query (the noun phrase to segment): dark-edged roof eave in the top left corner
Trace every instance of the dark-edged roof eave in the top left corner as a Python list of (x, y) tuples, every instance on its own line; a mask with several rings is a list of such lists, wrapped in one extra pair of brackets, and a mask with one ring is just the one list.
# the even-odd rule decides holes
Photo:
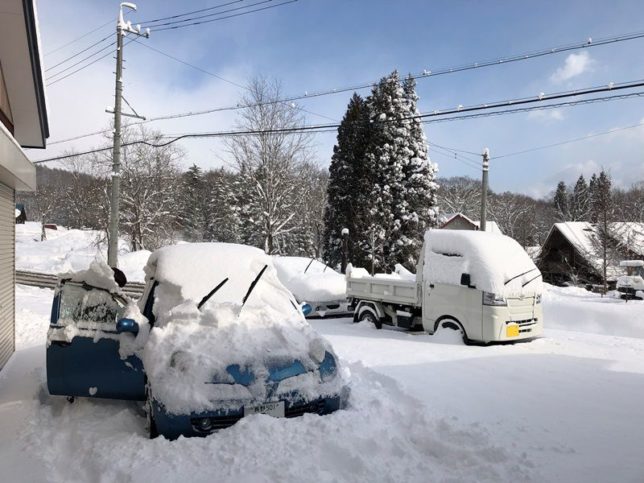
[(0, 66), (11, 105), (13, 137), (25, 148), (44, 148), (49, 137), (34, 0), (3, 0)]

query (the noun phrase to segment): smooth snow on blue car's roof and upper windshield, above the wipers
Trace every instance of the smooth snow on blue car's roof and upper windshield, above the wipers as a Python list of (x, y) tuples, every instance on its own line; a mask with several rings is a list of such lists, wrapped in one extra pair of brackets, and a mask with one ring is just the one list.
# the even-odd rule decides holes
[(279, 283), (271, 257), (259, 248), (232, 243), (185, 243), (161, 248), (148, 259), (146, 279), (180, 289), (182, 300), (200, 301), (228, 278), (213, 296), (213, 301), (241, 304), (250, 284), (264, 266), (262, 281), (278, 292), (288, 291)]

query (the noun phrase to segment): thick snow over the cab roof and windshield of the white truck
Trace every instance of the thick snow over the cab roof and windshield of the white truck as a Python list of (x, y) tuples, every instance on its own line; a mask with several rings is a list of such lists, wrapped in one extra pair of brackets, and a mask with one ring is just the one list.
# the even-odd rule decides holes
[(423, 276), (432, 283), (470, 285), (506, 297), (540, 293), (539, 269), (521, 245), (505, 235), (469, 230), (429, 230), (425, 234)]

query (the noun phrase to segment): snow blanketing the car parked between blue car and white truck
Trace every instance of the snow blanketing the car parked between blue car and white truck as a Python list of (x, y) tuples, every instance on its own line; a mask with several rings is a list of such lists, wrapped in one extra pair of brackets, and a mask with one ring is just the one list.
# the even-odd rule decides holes
[(277, 276), (302, 302), (344, 300), (347, 283), (343, 275), (318, 260), (305, 257), (273, 257)]

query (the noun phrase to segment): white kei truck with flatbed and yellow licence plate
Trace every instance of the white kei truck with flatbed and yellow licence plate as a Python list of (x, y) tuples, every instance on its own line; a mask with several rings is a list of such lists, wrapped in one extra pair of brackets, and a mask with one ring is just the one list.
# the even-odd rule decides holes
[[(434, 334), (466, 343), (532, 339), (543, 333), (541, 272), (512, 238), (482, 231), (428, 230), (416, 275), (347, 271), (354, 322)], [(402, 274), (400, 273), (402, 272)]]

